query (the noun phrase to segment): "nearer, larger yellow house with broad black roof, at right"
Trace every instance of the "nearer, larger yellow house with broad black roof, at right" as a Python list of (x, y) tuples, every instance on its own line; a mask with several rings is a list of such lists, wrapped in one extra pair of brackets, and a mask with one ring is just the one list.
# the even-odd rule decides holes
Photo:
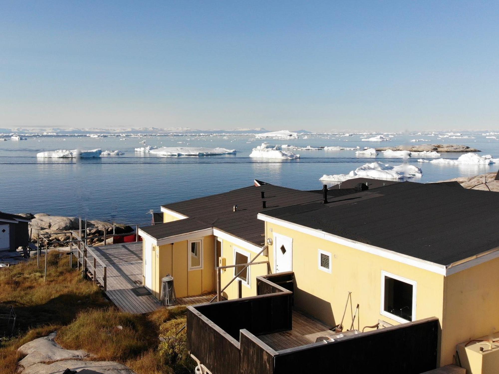
[(458, 344), (499, 331), (497, 208), (494, 192), (405, 182), (258, 218), (272, 272), (294, 273), (295, 308), (335, 326), (350, 295), (346, 325), (358, 304), (360, 330), (437, 317), (444, 366), (459, 364)]

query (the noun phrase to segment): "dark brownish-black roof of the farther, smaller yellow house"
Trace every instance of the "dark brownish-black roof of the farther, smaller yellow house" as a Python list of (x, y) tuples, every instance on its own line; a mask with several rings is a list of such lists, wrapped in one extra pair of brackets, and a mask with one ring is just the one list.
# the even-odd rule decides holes
[[(261, 197), (261, 192), (264, 197)], [(257, 213), (272, 208), (320, 201), (322, 196), (309, 191), (263, 184), (234, 189), (215, 195), (162, 205), (189, 218), (179, 221), (142, 227), (141, 230), (155, 239), (215, 227), (258, 246), (264, 245), (265, 223)], [(263, 208), (262, 201), (266, 202)], [(234, 211), (234, 205), (237, 210)]]

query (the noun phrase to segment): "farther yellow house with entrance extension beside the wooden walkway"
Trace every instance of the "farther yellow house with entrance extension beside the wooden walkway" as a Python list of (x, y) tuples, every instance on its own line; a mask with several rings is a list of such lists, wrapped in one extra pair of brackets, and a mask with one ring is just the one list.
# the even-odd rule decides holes
[[(250, 187), (162, 205), (163, 223), (139, 229), (143, 284), (160, 298), (161, 279), (170, 274), (177, 298), (213, 294), (217, 266), (268, 261), (265, 224), (257, 219), (259, 211), (320, 198), (315, 192), (255, 181)], [(255, 277), (267, 274), (267, 269), (268, 264), (260, 263), (221, 270), (221, 288), (229, 284), (221, 296), (255, 295)], [(230, 283), (238, 274), (237, 281)]]

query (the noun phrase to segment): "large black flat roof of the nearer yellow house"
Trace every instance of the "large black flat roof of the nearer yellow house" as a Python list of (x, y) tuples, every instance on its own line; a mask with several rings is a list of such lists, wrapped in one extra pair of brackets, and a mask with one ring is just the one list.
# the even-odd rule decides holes
[(498, 210), (498, 193), (403, 182), (262, 214), (447, 266), (499, 246)]

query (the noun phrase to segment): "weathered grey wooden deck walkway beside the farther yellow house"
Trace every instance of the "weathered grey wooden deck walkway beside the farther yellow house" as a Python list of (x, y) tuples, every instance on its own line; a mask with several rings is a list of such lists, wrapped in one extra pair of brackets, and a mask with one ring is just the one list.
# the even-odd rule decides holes
[[(152, 295), (137, 296), (132, 292), (132, 289), (142, 287), (141, 242), (92, 247), (92, 250), (107, 266), (106, 295), (121, 311), (142, 314), (164, 307)], [(102, 266), (97, 266), (96, 275), (101, 282)], [(214, 296), (213, 293), (177, 298), (175, 305), (207, 303)]]

